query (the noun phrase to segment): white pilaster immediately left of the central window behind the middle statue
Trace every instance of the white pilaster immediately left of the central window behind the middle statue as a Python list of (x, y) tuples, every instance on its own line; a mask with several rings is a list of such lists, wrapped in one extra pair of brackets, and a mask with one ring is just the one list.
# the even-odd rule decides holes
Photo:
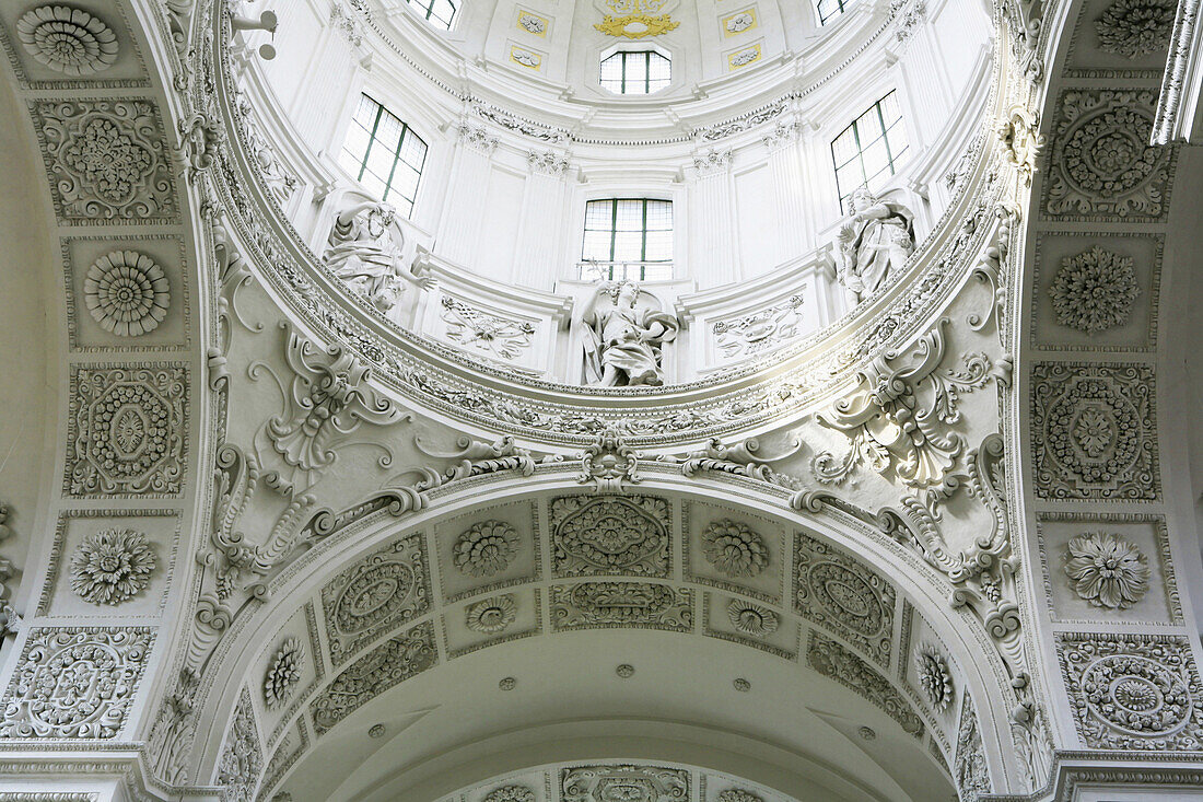
[(522, 196), (522, 229), (518, 231), (514, 278), (522, 287), (552, 291), (556, 279), (568, 275), (559, 264), (568, 194), (568, 157), (553, 151), (527, 154), (531, 175)]

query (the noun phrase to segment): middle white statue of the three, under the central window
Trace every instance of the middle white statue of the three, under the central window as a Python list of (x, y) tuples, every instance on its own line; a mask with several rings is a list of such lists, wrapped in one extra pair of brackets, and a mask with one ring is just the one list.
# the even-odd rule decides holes
[(602, 282), (574, 316), (586, 384), (664, 383), (660, 346), (676, 337), (680, 323), (671, 314), (638, 306), (639, 293), (639, 284), (632, 282)]

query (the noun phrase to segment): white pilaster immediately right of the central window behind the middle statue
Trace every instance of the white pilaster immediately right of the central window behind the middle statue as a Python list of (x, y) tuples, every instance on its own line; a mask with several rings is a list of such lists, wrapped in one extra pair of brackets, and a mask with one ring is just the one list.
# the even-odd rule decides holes
[(688, 275), (698, 289), (718, 287), (742, 277), (735, 236), (735, 179), (731, 152), (709, 151), (693, 158), (695, 181), (689, 204)]

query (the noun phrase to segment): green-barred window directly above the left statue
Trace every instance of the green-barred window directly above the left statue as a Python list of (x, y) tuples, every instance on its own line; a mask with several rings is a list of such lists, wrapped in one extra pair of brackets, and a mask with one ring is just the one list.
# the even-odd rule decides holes
[(367, 95), (360, 96), (338, 160), (368, 193), (392, 204), (398, 214), (409, 217), (414, 211), (426, 142)]

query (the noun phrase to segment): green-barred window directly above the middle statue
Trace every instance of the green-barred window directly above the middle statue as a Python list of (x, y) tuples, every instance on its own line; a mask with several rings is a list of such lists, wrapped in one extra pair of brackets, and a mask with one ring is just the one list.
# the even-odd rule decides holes
[(672, 278), (672, 201), (646, 197), (588, 201), (581, 278)]

